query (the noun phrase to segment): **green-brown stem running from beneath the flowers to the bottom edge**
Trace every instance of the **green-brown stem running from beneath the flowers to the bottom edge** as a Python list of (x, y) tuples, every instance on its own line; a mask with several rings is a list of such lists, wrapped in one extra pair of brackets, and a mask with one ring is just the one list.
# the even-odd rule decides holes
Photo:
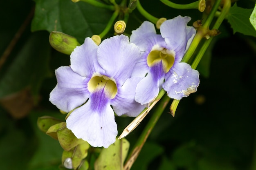
[[(161, 94), (165, 94), (165, 93), (161, 93)], [(162, 97), (162, 96), (158, 95), (158, 97)], [(167, 95), (164, 95), (164, 97), (159, 102), (159, 105), (154, 110), (153, 115), (150, 117), (150, 120), (148, 121), (146, 127), (144, 128), (143, 132), (141, 133), (139, 139), (137, 140), (137, 143), (133, 147), (132, 152), (129, 153), (128, 159), (124, 166), (124, 170), (130, 170), (130, 168), (132, 167), (132, 164), (137, 159), (137, 157), (141, 151), (141, 148), (144, 146), (144, 143), (146, 142), (148, 136), (150, 135), (150, 132), (153, 130), (155, 124), (157, 123), (159, 117), (164, 112), (164, 109), (166, 108), (169, 101), (170, 101), (170, 97), (168, 97)]]

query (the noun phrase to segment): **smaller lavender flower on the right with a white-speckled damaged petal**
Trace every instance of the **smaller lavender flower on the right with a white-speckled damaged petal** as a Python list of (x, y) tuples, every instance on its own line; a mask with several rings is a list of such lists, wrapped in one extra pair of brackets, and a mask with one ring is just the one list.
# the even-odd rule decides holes
[(177, 16), (160, 26), (161, 35), (155, 26), (145, 21), (132, 31), (130, 42), (140, 47), (141, 58), (132, 75), (145, 76), (138, 83), (135, 100), (150, 104), (164, 88), (167, 95), (180, 100), (197, 90), (199, 73), (187, 63), (180, 62), (196, 33), (187, 26), (190, 17)]

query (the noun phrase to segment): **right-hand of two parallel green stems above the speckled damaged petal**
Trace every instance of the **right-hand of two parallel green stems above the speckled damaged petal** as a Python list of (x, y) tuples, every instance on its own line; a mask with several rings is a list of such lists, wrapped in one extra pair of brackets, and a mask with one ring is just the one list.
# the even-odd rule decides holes
[[(220, 27), (220, 24), (225, 19), (227, 13), (229, 12), (230, 7), (231, 7), (231, 1), (230, 0), (225, 0), (222, 11), (220, 13), (220, 16), (217, 19), (217, 21), (215, 22), (215, 24), (213, 25), (213, 29), (218, 29)], [(210, 38), (209, 40), (205, 41), (204, 44), (202, 45), (202, 48), (198, 52), (198, 55), (195, 57), (195, 60), (191, 64), (191, 67), (193, 69), (195, 69), (198, 66), (200, 60), (202, 59), (202, 56), (204, 55), (205, 51), (207, 50), (208, 46), (210, 45), (212, 39), (213, 38)]]

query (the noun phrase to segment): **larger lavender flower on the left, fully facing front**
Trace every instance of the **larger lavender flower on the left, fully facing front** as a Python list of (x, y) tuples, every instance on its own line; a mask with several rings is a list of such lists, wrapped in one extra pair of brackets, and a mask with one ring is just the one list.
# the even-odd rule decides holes
[(125, 35), (99, 46), (86, 38), (72, 52), (71, 65), (55, 71), (57, 85), (49, 100), (65, 112), (74, 109), (66, 123), (77, 138), (108, 148), (117, 136), (114, 111), (136, 117), (144, 109), (134, 100), (141, 77), (131, 76), (139, 55), (139, 47)]

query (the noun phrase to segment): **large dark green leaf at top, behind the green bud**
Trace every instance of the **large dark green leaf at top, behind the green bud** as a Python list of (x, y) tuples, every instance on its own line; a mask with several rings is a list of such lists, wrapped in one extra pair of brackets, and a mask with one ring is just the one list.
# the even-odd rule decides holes
[(74, 36), (80, 43), (85, 37), (100, 34), (112, 11), (71, 0), (35, 0), (31, 31), (60, 31)]

